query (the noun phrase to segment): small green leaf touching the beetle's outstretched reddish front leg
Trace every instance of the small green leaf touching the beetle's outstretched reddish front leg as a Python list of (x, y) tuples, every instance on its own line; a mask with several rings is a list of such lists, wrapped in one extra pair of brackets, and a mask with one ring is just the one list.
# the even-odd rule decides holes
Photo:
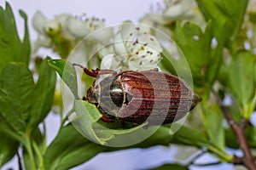
[(67, 87), (73, 93), (74, 97), (79, 99), (77, 74), (73, 64), (64, 59), (49, 59), (48, 64), (58, 72), (63, 82), (67, 84)]

